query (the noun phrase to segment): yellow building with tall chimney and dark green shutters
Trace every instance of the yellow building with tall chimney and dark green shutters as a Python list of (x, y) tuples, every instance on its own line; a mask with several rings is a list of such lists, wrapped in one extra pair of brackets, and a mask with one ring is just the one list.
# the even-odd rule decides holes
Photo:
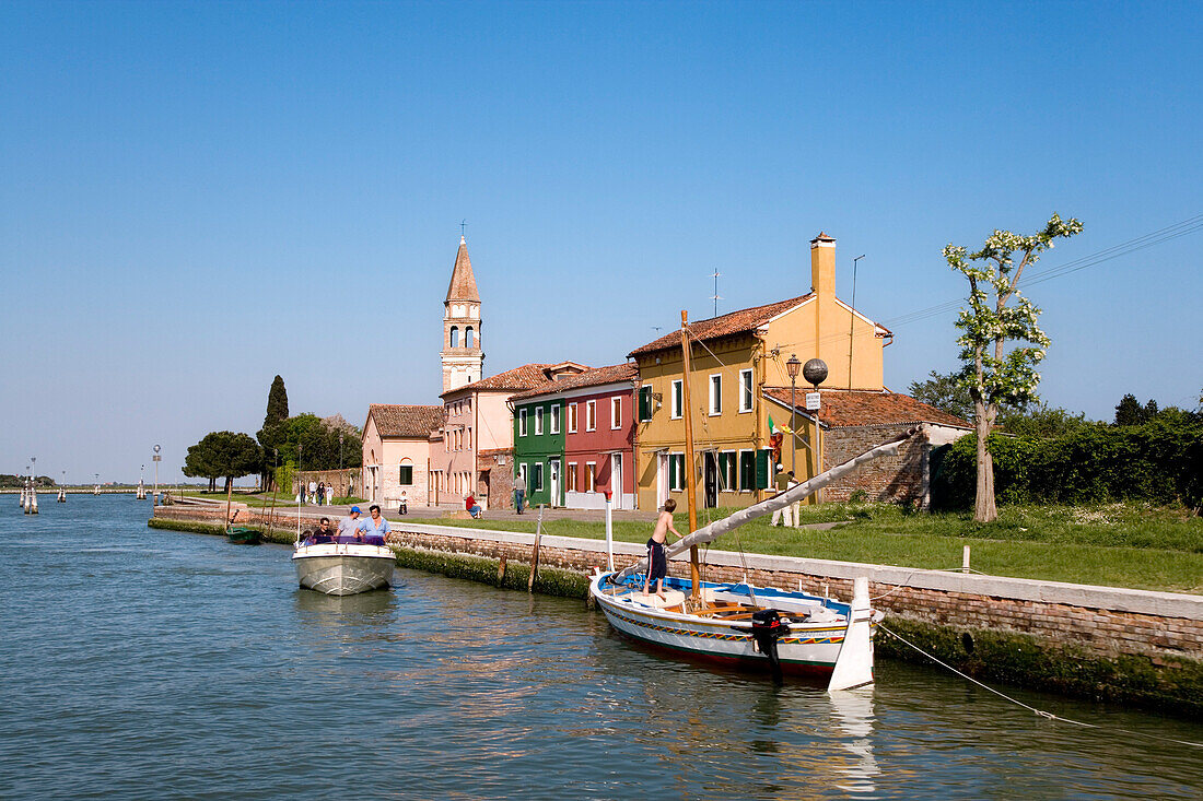
[[(775, 473), (769, 419), (790, 427), (790, 411), (766, 399), (768, 388), (789, 387), (792, 356), (828, 364), (824, 388), (877, 390), (882, 350), (893, 334), (835, 296), (835, 239), (811, 241), (811, 291), (766, 305), (689, 325), (691, 408), (700, 506), (747, 506), (761, 500)], [(674, 331), (629, 354), (639, 366), (639, 426), (635, 464), (639, 508), (668, 498), (685, 502), (685, 425), (681, 332)], [(811, 387), (798, 376), (798, 405)], [(787, 434), (780, 445), (786, 470), (813, 475), (813, 419), (796, 422), (796, 465)]]

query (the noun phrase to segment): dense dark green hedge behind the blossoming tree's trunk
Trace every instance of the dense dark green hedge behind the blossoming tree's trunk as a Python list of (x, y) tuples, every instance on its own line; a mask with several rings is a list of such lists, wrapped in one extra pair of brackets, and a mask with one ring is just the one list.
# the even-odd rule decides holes
[[(977, 437), (932, 461), (935, 509), (966, 509), (977, 488)], [(1055, 439), (990, 435), (998, 503), (1203, 503), (1203, 423), (1154, 420), (1098, 426)]]

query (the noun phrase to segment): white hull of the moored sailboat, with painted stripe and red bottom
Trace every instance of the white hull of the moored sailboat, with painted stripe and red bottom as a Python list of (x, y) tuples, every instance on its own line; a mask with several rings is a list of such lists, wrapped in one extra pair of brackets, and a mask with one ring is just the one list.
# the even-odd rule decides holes
[[(659, 648), (709, 661), (769, 669), (769, 658), (757, 648), (752, 627), (747, 621), (734, 623), (733, 621), (656, 609), (654, 595), (642, 595), (638, 589), (629, 588), (618, 593), (614, 593), (612, 588), (610, 588), (611, 592), (606, 592), (602, 588), (604, 580), (604, 575), (594, 576), (589, 592), (598, 606), (602, 607), (610, 625), (622, 634)], [(716, 588), (721, 589), (722, 587), (721, 585), (709, 585), (712, 593)], [(680, 592), (677, 594), (680, 595)], [(777, 654), (783, 672), (830, 676), (843, 648), (848, 617), (847, 613), (837, 613), (829, 606), (843, 607), (846, 605), (830, 604), (825, 606), (825, 599), (801, 593), (778, 594), (771, 599), (758, 598), (758, 605), (763, 607), (784, 609), (787, 615), (789, 607), (794, 606), (798, 617), (802, 616), (806, 604), (814, 606), (817, 611), (813, 617), (825, 619), (820, 622), (792, 621), (788, 634), (777, 640)], [(653, 605), (648, 606), (648, 603)], [(873, 618), (873, 624), (876, 624), (881, 615), (877, 613)]]

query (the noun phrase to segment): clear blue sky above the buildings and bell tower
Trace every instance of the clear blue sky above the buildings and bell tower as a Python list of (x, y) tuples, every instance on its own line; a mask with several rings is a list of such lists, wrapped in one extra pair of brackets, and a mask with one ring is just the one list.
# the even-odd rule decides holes
[[(1054, 271), (1203, 214), (1195, 4), (0, 5), (0, 471), (165, 480), (267, 390), (437, 403), (460, 221), (486, 373), (837, 290), (956, 364), (940, 255)], [(1203, 232), (1033, 284), (1045, 400), (1195, 407)], [(1036, 278), (1041, 272), (1032, 273)], [(899, 320), (899, 325), (891, 321)]]

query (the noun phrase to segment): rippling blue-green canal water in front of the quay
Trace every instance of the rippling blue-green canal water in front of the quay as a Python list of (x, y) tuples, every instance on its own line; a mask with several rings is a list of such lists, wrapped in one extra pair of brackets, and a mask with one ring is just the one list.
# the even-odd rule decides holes
[(0, 797), (1201, 797), (1203, 724), (938, 669), (774, 687), (641, 651), (583, 601), (422, 572), (297, 589), (290, 550), (147, 502), (0, 496)]

